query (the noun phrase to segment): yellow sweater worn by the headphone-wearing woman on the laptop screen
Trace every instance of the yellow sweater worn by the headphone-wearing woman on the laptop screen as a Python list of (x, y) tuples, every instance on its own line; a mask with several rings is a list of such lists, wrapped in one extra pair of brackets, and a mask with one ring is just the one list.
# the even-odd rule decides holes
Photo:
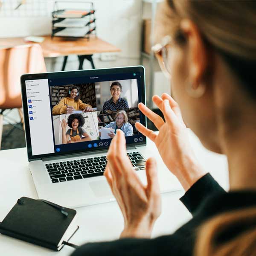
[(84, 109), (87, 106), (91, 107), (91, 105), (83, 103), (81, 99), (79, 99), (78, 102), (75, 102), (74, 99), (71, 99), (70, 97), (65, 97), (65, 98), (62, 98), (60, 102), (52, 108), (52, 114), (53, 115), (66, 114), (67, 106), (65, 104), (67, 104), (68, 106), (74, 107), (75, 110)]

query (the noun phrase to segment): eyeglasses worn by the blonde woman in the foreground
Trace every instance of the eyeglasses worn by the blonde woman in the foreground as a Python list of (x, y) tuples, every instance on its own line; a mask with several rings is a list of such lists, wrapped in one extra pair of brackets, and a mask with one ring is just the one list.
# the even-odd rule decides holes
[(171, 76), (170, 57), (172, 38), (166, 35), (161, 44), (154, 45), (151, 49), (157, 57), (159, 66), (167, 78)]

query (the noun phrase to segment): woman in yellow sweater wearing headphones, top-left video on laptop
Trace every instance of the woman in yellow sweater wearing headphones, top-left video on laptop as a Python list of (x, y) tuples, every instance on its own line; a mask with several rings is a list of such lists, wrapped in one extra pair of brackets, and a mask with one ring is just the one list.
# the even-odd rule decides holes
[(60, 102), (52, 108), (53, 115), (72, 114), (74, 110), (83, 110), (83, 112), (91, 112), (93, 108), (89, 104), (85, 104), (80, 99), (79, 87), (72, 86), (68, 95), (60, 100)]

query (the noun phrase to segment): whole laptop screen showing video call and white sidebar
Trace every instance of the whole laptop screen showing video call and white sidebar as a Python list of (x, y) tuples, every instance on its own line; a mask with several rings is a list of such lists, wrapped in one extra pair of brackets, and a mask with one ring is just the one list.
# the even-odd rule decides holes
[(127, 144), (144, 144), (145, 137), (135, 128), (136, 122), (145, 123), (138, 109), (138, 103), (145, 102), (144, 69), (137, 68), (25, 78), (31, 158), (106, 149), (117, 129)]

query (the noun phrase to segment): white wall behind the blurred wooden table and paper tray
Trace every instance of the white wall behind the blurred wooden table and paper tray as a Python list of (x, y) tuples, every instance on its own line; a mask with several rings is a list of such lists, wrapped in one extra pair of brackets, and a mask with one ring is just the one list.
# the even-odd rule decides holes
[[(47, 35), (51, 32), (53, 0), (48, 0), (46, 17), (2, 17), (0, 14), (0, 38)], [(115, 61), (101, 61), (93, 56), (96, 68), (122, 67), (140, 63), (141, 1), (140, 0), (92, 0), (96, 9), (97, 36), (121, 49)], [(63, 58), (46, 58), (47, 70), (61, 70)], [(68, 58), (66, 70), (78, 69), (77, 56)], [(84, 69), (90, 69), (84, 61)], [(19, 120), (17, 111), (12, 118)]]

